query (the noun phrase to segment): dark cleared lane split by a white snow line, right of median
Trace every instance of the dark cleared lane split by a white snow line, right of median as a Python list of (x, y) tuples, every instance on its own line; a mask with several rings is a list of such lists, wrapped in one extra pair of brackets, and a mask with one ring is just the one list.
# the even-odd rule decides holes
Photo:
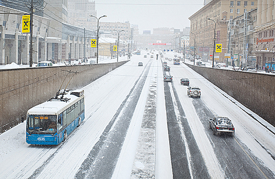
[(171, 86), (164, 83), (173, 178), (211, 178), (173, 83)]

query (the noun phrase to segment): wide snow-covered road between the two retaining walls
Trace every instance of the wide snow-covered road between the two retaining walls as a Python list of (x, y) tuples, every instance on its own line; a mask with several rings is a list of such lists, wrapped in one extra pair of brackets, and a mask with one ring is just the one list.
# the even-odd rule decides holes
[[(274, 127), (183, 63), (168, 61), (164, 83), (161, 59), (146, 53), (83, 87), (85, 119), (60, 145), (28, 145), (26, 121), (2, 133), (0, 178), (275, 178)], [(188, 98), (184, 77), (200, 99)], [(235, 137), (213, 135), (216, 115)]]

